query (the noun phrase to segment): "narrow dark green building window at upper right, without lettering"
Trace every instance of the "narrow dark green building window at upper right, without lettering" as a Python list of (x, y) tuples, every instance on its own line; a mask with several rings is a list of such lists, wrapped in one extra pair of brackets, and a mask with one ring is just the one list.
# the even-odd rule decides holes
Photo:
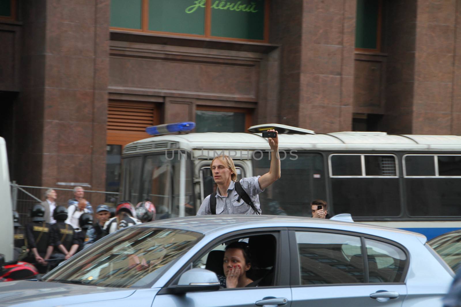
[(382, 0), (357, 0), (355, 48), (381, 51)]

